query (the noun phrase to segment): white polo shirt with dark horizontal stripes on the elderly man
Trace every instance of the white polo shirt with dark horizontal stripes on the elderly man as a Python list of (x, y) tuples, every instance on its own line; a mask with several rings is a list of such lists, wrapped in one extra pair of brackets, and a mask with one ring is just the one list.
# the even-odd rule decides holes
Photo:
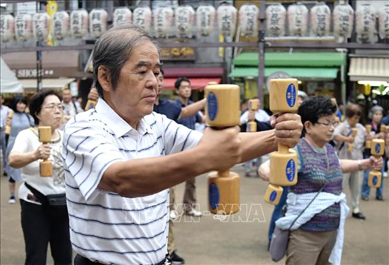
[(135, 130), (101, 98), (65, 128), (63, 159), (71, 244), (103, 264), (156, 264), (167, 253), (169, 190), (126, 198), (97, 188), (113, 163), (174, 154), (202, 134), (153, 112)]

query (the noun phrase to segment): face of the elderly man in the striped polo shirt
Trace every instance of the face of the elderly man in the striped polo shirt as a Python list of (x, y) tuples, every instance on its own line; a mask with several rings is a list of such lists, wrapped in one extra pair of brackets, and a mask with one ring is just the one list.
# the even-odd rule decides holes
[(119, 74), (118, 85), (109, 92), (115, 111), (126, 121), (140, 120), (153, 111), (158, 93), (159, 54), (145, 40), (134, 47)]

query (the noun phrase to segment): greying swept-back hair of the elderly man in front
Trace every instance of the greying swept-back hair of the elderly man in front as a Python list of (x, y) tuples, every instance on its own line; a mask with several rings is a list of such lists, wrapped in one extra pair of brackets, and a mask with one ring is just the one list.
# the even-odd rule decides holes
[(141, 41), (151, 41), (159, 51), (159, 44), (155, 37), (147, 33), (141, 26), (132, 22), (121, 22), (110, 27), (97, 41), (93, 49), (93, 85), (99, 96), (103, 98), (103, 88), (97, 78), (99, 67), (105, 66), (110, 75), (112, 89), (115, 90), (120, 71), (128, 60), (131, 51)]

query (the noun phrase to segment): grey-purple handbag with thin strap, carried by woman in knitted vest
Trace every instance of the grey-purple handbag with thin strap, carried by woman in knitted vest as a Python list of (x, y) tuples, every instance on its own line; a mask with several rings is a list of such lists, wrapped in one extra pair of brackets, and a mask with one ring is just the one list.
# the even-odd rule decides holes
[[(321, 191), (324, 189), (325, 184), (327, 181), (324, 183), (323, 187), (320, 188), (318, 191), (318, 194), (321, 193)], [(269, 247), (269, 252), (271, 255), (271, 260), (274, 262), (279, 262), (280, 260), (283, 259), (286, 253), (286, 249), (288, 248), (288, 243), (289, 243), (289, 233), (290, 229), (294, 225), (294, 223), (299, 219), (302, 213), (305, 212), (305, 210), (311, 205), (311, 203), (316, 199), (318, 194), (315, 195), (315, 197), (308, 203), (308, 205), (300, 212), (300, 214), (296, 217), (296, 219), (292, 222), (292, 224), (289, 226), (289, 229), (287, 230), (282, 230), (276, 226), (274, 229), (273, 235), (271, 236), (270, 240), (270, 247)]]

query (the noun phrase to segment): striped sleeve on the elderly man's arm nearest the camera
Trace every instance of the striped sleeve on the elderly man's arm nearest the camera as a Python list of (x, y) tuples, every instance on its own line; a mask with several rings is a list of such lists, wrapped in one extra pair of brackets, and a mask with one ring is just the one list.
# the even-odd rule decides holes
[(125, 161), (113, 143), (112, 135), (92, 122), (75, 122), (66, 126), (62, 158), (85, 200), (95, 191), (106, 169)]

